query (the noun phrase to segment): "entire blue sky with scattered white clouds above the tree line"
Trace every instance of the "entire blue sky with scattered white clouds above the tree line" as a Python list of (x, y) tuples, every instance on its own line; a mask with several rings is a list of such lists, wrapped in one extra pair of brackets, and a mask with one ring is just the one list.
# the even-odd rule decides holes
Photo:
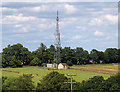
[[(30, 51), (55, 42), (56, 13), (62, 47), (118, 48), (117, 2), (3, 2), (2, 48), (21, 43)], [(1, 52), (0, 51), (0, 52)]]

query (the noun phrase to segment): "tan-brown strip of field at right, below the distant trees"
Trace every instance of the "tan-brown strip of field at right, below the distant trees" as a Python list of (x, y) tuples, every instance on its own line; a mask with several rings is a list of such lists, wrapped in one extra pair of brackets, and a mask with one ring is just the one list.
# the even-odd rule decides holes
[(116, 74), (118, 72), (118, 63), (113, 64), (89, 64), (89, 65), (75, 65), (72, 69), (103, 73), (103, 74)]

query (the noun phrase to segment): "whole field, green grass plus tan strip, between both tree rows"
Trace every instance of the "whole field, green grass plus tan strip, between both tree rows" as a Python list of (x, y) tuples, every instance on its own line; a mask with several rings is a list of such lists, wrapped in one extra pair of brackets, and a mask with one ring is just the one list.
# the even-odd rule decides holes
[[(99, 66), (99, 67), (98, 67)], [(106, 66), (106, 67), (105, 67)], [(83, 80), (88, 80), (89, 78), (92, 78), (93, 76), (103, 76), (105, 79), (110, 77), (110, 73), (104, 73), (103, 70), (108, 70), (111, 68), (117, 69), (117, 64), (108, 64), (108, 65), (77, 65), (72, 66), (72, 69), (67, 70), (48, 70), (48, 68), (43, 68), (39, 66), (24, 66), (22, 68), (2, 68), (2, 76), (7, 76), (9, 78), (16, 78), (22, 74), (33, 74), (34, 78), (33, 81), (35, 82), (35, 85), (39, 82), (40, 79), (42, 79), (45, 75), (52, 71), (58, 71), (62, 74), (76, 74), (73, 79), (75, 79), (78, 82), (82, 82)], [(103, 68), (104, 67), (104, 68)], [(93, 71), (97, 70), (97, 71)], [(82, 70), (81, 70), (82, 69)], [(87, 69), (87, 70), (85, 70)], [(103, 72), (99, 72), (101, 70)]]

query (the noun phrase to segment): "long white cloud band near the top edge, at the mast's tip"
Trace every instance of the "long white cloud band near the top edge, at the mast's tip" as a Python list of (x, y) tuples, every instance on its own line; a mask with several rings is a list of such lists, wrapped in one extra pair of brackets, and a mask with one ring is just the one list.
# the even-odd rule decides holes
[[(53, 7), (54, 5), (54, 7)], [(53, 4), (53, 5), (40, 5), (35, 7), (23, 7), (20, 10), (26, 12), (53, 12), (58, 10), (62, 10), (66, 14), (73, 14), (77, 12), (77, 8), (74, 5), (70, 4)]]

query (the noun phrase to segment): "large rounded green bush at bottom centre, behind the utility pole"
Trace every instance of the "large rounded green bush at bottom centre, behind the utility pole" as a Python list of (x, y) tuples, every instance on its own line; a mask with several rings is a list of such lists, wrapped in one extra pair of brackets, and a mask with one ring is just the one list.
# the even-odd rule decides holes
[[(68, 79), (64, 74), (60, 74), (58, 72), (51, 72), (46, 75), (40, 83), (37, 85), (37, 90), (43, 91), (54, 91), (54, 92), (61, 92), (61, 90), (70, 90), (70, 84), (64, 82), (70, 82), (71, 80)], [(75, 80), (73, 80), (75, 81)], [(73, 84), (73, 90), (79, 89), (79, 82)]]

